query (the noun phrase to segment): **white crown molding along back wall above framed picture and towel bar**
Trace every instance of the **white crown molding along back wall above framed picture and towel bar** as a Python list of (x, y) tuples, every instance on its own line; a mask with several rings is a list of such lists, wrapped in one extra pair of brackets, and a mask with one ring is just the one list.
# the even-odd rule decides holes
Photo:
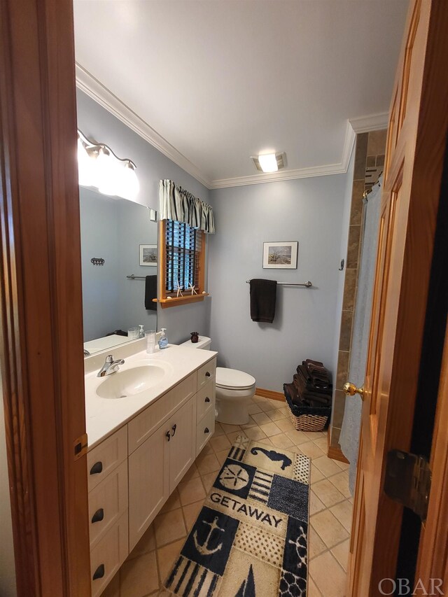
[(258, 185), (262, 183), (274, 183), (278, 181), (292, 181), (295, 178), (311, 178), (311, 176), (330, 176), (330, 174), (345, 174), (349, 168), (351, 152), (355, 143), (356, 134), (350, 123), (347, 121), (345, 129), (344, 147), (342, 148), (342, 160), (339, 164), (327, 164), (324, 166), (313, 166), (311, 168), (300, 168), (297, 170), (281, 170), (270, 174), (253, 174), (253, 176), (238, 176), (236, 178), (222, 178), (211, 182), (212, 189), (228, 187), (239, 187), (244, 185)]

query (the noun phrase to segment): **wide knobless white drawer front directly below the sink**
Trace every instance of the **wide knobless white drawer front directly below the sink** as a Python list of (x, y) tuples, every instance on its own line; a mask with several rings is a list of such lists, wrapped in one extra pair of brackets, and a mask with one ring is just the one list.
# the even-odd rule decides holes
[(148, 406), (130, 423), (128, 428), (129, 454), (143, 444), (164, 421), (196, 393), (196, 373), (192, 373), (175, 388)]

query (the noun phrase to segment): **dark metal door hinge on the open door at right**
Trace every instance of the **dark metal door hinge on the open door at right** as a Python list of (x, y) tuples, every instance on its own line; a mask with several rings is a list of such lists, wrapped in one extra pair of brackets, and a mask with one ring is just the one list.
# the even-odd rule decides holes
[(401, 450), (388, 452), (384, 493), (410, 508), (423, 522), (428, 512), (430, 486), (431, 470), (426, 458)]

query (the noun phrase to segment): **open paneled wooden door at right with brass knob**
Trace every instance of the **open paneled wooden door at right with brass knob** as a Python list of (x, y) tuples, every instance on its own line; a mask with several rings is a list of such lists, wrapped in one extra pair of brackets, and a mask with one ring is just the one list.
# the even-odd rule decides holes
[(381, 580), (395, 577), (402, 507), (384, 494), (384, 465), (389, 450), (409, 450), (414, 420), (447, 134), (447, 16), (448, 3), (411, 2), (391, 101), (349, 556), (353, 597), (377, 596)]

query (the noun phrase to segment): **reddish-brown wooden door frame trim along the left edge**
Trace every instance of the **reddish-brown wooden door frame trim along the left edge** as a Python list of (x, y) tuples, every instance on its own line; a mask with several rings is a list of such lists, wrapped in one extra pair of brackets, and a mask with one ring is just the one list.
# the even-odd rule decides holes
[(0, 5), (0, 361), (24, 597), (90, 595), (72, 11)]

